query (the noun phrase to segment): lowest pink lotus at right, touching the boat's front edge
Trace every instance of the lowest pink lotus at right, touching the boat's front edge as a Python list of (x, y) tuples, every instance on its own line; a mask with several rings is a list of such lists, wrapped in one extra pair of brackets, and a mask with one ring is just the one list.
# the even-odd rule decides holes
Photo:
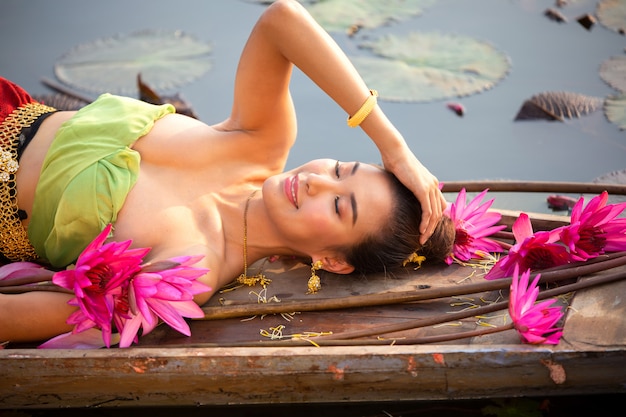
[(522, 273), (518, 278), (518, 266), (515, 266), (513, 280), (511, 281), (511, 294), (509, 299), (509, 315), (515, 329), (520, 334), (522, 341), (532, 344), (559, 343), (563, 332), (554, 325), (563, 317), (560, 307), (551, 307), (556, 299), (545, 300), (535, 304), (539, 295), (540, 275), (538, 274), (533, 282), (528, 285), (530, 270)]

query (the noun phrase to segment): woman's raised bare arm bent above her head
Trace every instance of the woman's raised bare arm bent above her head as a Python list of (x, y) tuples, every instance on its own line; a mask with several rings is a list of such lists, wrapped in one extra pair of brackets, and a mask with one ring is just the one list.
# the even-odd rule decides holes
[[(357, 112), (370, 95), (348, 57), (306, 9), (297, 1), (278, 0), (263, 13), (242, 54), (230, 123), (256, 132), (272, 141), (273, 147), (288, 149), (296, 132), (289, 95), (292, 64), (347, 115)], [(379, 149), (385, 168), (420, 201), (422, 243), (425, 242), (446, 204), (437, 179), (411, 152), (378, 105), (360, 126)]]

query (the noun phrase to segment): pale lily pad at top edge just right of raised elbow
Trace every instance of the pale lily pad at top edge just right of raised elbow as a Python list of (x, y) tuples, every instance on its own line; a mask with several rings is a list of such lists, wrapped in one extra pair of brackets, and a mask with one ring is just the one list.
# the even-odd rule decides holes
[(422, 14), (436, 0), (320, 0), (305, 7), (329, 32), (344, 32), (355, 26), (376, 28)]

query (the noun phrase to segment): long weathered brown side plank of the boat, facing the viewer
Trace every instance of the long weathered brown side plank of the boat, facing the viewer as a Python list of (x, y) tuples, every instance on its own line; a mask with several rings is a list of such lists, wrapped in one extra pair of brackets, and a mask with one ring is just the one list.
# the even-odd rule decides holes
[(624, 392), (624, 352), (537, 346), (0, 352), (5, 408), (328, 403)]

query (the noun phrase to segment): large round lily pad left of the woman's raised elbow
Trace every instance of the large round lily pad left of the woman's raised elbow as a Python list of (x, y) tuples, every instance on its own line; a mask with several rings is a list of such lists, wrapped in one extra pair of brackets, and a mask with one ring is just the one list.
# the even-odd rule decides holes
[(212, 47), (180, 31), (145, 30), (78, 45), (55, 64), (62, 82), (96, 93), (137, 94), (137, 75), (157, 90), (189, 83), (211, 68)]

